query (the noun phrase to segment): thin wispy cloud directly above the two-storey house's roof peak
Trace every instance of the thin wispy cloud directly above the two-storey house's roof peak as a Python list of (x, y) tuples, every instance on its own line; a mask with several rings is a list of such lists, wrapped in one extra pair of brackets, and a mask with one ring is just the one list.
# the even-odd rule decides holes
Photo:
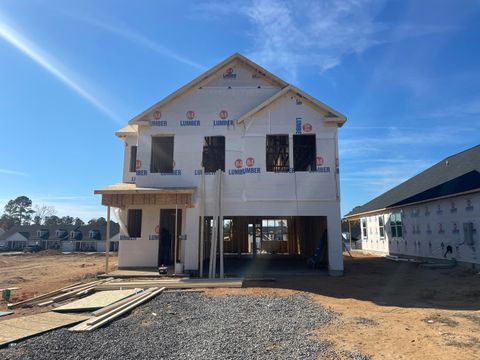
[[(249, 54), (268, 68), (285, 71), (291, 81), (300, 66), (324, 72), (350, 54), (380, 44), (451, 31), (448, 26), (390, 24), (376, 18), (383, 0), (251, 0), (211, 1), (197, 7), (208, 14), (237, 12), (253, 25)], [(215, 18), (215, 16), (212, 16)]]

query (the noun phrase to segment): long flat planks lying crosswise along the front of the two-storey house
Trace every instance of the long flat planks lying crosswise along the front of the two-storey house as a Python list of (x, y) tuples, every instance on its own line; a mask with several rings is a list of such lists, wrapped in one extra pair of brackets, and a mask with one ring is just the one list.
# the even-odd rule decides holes
[(135, 281), (109, 281), (98, 284), (95, 290), (148, 289), (165, 287), (166, 289), (198, 289), (198, 288), (241, 288), (243, 279), (156, 279)]

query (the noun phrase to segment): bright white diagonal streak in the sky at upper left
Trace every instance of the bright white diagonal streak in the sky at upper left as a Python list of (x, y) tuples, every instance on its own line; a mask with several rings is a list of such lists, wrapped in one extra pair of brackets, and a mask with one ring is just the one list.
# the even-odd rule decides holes
[(115, 120), (119, 124), (122, 124), (122, 121), (118, 118), (118, 116), (104, 103), (102, 103), (102, 101), (100, 101), (94, 94), (88, 91), (84, 86), (80, 85), (79, 81), (75, 80), (74, 76), (69, 74), (69, 72), (65, 70), (64, 66), (60, 65), (57, 60), (53, 59), (50, 55), (47, 55), (44, 50), (28, 41), (19, 32), (7, 25), (2, 17), (0, 17), (0, 38), (3, 38), (10, 45), (14, 46), (23, 54), (28, 56), (35, 63), (40, 65), (55, 78), (67, 85), (75, 93), (80, 95), (83, 99), (88, 101), (91, 105), (107, 115), (109, 118)]

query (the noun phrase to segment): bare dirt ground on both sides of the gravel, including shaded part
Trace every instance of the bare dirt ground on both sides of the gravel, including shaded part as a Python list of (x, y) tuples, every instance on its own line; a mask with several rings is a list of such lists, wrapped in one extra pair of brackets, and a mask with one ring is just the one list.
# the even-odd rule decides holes
[[(116, 258), (111, 260), (112, 269)], [(0, 256), (0, 288), (18, 286), (20, 300), (104, 271), (104, 255)], [(338, 320), (318, 329), (322, 340), (342, 351), (373, 359), (479, 359), (480, 275), (478, 270), (418, 268), (385, 258), (354, 253), (345, 257), (345, 276), (291, 276), (249, 282), (243, 289), (211, 289), (228, 294), (310, 296), (336, 312)], [(4, 310), (4, 302), (0, 310)], [(46, 311), (42, 309), (40, 311)], [(16, 315), (39, 312), (15, 309)]]

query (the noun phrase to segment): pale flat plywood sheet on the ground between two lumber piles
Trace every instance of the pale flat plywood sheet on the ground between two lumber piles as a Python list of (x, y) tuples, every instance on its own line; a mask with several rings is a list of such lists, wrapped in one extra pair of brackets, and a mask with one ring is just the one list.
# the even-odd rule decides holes
[(56, 312), (93, 311), (108, 306), (137, 293), (136, 289), (100, 291), (80, 300), (53, 309)]

